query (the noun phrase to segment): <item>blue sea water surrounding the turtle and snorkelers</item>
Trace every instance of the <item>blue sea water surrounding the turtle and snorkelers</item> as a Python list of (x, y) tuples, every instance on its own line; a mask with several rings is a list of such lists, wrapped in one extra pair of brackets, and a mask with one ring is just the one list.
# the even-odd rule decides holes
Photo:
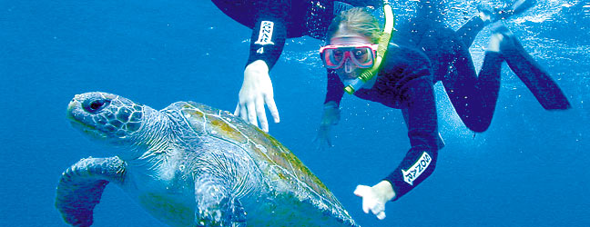
[[(397, 2), (402, 19), (413, 3)], [(449, 3), (456, 8), (448, 24), (457, 29), (475, 14), (473, 2)], [(400, 162), (409, 148), (402, 115), (347, 96), (334, 147), (316, 151), (326, 84), (320, 41), (285, 46), (271, 72), (281, 123), (271, 123), (270, 133), (362, 226), (590, 226), (590, 3), (539, 2), (506, 25), (573, 108), (544, 111), (504, 65), (492, 126), (473, 137), (437, 84), (446, 147), (428, 180), (387, 204), (384, 221), (364, 214), (352, 191)], [(107, 155), (108, 147), (67, 123), (74, 94), (109, 92), (157, 109), (193, 100), (233, 111), (249, 35), (202, 0), (0, 1), (0, 226), (66, 226), (54, 207), (60, 174), (80, 158)], [(473, 45), (478, 65), (489, 35), (486, 28)], [(94, 226), (163, 225), (111, 185)]]

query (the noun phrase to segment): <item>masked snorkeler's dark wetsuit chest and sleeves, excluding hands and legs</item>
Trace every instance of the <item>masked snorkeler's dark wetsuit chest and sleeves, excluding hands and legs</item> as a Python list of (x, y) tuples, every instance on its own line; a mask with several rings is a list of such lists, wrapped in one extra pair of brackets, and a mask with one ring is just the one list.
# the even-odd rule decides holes
[[(329, 71), (326, 102), (340, 104), (343, 88), (338, 75)], [(436, 104), (428, 57), (416, 49), (390, 44), (375, 84), (371, 89), (359, 89), (354, 95), (407, 111), (412, 148), (384, 179), (392, 183), (397, 200), (434, 171), (438, 156)]]

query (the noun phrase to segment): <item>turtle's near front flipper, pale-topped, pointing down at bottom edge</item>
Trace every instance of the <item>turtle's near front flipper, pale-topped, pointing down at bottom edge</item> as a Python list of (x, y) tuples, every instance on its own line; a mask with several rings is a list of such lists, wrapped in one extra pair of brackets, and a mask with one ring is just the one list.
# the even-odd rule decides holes
[(204, 226), (246, 226), (246, 211), (237, 198), (222, 185), (196, 183), (195, 224)]

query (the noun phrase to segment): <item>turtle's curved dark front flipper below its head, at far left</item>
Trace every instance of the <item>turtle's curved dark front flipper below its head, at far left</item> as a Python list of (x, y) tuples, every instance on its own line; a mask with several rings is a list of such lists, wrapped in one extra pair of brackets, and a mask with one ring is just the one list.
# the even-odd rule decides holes
[(92, 225), (92, 211), (109, 182), (123, 183), (125, 163), (117, 157), (86, 158), (62, 173), (56, 208), (72, 226)]

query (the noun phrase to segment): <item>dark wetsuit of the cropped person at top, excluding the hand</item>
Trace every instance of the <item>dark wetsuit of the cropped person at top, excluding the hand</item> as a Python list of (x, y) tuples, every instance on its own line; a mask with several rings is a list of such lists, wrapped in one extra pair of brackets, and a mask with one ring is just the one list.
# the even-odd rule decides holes
[[(326, 30), (341, 10), (334, 0), (212, 0), (223, 13), (252, 28), (246, 65), (263, 60), (271, 69), (280, 57), (287, 38), (304, 35), (324, 39)], [(354, 5), (371, 5), (372, 0), (341, 0)], [(377, 1), (378, 2), (378, 1)]]

